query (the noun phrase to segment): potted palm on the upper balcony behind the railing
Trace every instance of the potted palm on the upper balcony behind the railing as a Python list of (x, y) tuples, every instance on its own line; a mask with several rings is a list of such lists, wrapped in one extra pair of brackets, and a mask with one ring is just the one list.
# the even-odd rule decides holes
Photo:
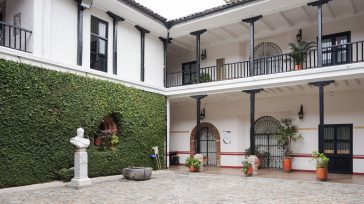
[(289, 56), (292, 58), (295, 64), (295, 70), (301, 70), (303, 63), (306, 61), (307, 52), (315, 47), (315, 42), (299, 41), (297, 43), (289, 43), (292, 53)]

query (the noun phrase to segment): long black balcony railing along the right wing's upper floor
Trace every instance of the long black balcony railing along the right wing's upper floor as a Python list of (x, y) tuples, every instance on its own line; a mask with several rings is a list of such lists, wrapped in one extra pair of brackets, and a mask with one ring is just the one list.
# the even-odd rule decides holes
[[(364, 41), (325, 47), (322, 49), (323, 66), (363, 62), (363, 47)], [(196, 70), (168, 73), (167, 87), (318, 68), (317, 49), (255, 59), (253, 73), (250, 73), (249, 67), (249, 61), (204, 67), (200, 69), (199, 81)]]

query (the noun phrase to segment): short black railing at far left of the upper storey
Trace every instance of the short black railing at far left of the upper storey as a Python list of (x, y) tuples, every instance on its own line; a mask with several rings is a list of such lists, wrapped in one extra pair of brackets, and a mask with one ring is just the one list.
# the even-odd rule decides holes
[(31, 30), (0, 22), (0, 46), (30, 52)]

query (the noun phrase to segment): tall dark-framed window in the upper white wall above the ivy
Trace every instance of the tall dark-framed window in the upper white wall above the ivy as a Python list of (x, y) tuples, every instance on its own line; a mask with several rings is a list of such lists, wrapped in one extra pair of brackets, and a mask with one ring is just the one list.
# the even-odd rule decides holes
[(91, 17), (90, 67), (107, 72), (107, 22)]

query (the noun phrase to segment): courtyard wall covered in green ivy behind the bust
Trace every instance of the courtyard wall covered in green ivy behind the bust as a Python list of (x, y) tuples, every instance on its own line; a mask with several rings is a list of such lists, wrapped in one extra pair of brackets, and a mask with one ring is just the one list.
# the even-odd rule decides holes
[(0, 188), (55, 180), (73, 166), (69, 139), (83, 127), (93, 144), (105, 116), (119, 116), (115, 151), (88, 148), (89, 176), (120, 174), (127, 166), (164, 164), (166, 101), (162, 95), (0, 60)]

